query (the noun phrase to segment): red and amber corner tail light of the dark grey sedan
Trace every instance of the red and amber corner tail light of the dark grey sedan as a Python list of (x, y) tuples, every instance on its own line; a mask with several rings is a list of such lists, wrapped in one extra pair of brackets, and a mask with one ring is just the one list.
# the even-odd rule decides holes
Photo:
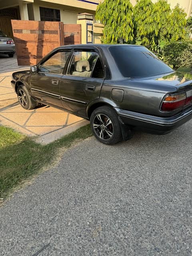
[(181, 94), (168, 94), (165, 96), (162, 105), (161, 110), (162, 111), (173, 111), (178, 108), (184, 107), (186, 104), (186, 93), (183, 92)]

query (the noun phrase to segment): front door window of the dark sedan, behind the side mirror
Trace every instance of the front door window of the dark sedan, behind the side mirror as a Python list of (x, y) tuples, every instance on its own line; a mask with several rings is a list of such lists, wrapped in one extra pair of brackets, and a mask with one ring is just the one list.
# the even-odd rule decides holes
[(39, 72), (50, 74), (63, 74), (65, 64), (70, 56), (71, 51), (56, 52), (42, 65), (39, 66)]

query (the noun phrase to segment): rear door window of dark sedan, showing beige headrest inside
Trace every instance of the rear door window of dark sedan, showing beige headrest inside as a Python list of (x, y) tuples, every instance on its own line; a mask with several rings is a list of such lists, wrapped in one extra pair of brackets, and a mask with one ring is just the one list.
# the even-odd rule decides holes
[[(99, 55), (96, 52), (74, 51), (67, 74), (72, 76), (98, 78), (98, 75), (100, 74), (97, 74), (97, 72), (94, 71), (98, 58)], [(92, 74), (94, 74), (94, 76), (92, 76)]]

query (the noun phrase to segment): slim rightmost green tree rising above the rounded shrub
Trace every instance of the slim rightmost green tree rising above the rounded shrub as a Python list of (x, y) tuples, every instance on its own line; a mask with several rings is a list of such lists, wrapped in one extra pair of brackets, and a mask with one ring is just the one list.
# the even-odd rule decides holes
[(182, 41), (186, 38), (186, 16), (184, 9), (177, 4), (171, 13), (171, 41)]

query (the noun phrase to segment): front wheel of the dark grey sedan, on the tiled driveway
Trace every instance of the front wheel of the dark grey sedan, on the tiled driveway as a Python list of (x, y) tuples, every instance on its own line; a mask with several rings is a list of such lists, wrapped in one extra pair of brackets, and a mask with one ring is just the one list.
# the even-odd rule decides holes
[(37, 102), (35, 102), (28, 93), (28, 90), (24, 85), (19, 85), (17, 88), (17, 96), (20, 105), (24, 109), (34, 109), (37, 106)]

